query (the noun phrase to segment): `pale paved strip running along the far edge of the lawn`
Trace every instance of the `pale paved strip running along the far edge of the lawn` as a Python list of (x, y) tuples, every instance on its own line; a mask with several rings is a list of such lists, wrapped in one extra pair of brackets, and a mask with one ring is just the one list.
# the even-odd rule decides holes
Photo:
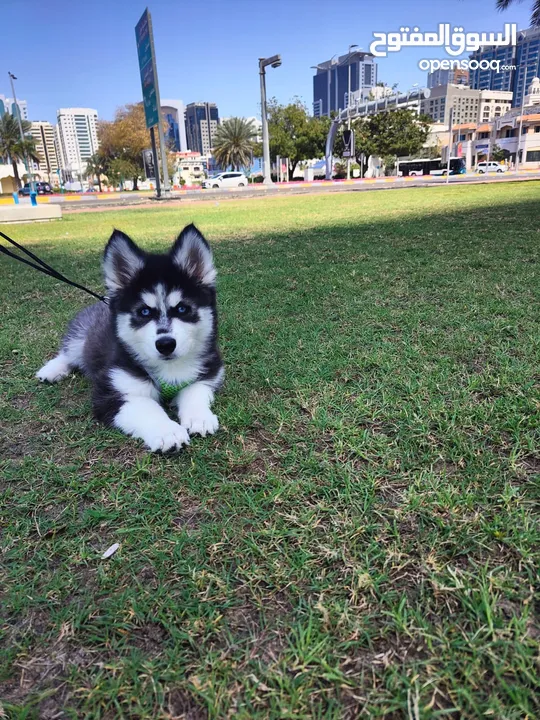
[[(524, 171), (520, 173), (508, 172), (494, 175), (454, 175), (448, 178), (448, 184), (451, 185), (467, 185), (482, 184), (495, 182), (523, 182), (527, 180), (540, 180), (540, 170)], [(216, 199), (244, 199), (267, 197), (275, 195), (308, 195), (313, 193), (328, 192), (361, 192), (366, 190), (389, 190), (391, 188), (402, 187), (437, 187), (446, 185), (445, 177), (383, 177), (369, 179), (354, 180), (321, 180), (315, 182), (294, 182), (281, 183), (272, 186), (264, 186), (262, 184), (253, 184), (245, 188), (229, 188), (223, 190), (181, 190), (171, 193), (170, 197), (163, 199), (161, 203), (177, 203), (182, 200), (188, 201), (204, 201)], [(149, 192), (125, 192), (125, 193), (96, 193), (84, 195), (55, 195), (40, 197), (41, 202), (58, 202), (61, 203), (65, 211), (70, 208), (82, 210), (86, 208), (105, 208), (105, 207), (124, 207), (133, 205), (149, 205), (155, 204), (157, 201)], [(9, 199), (2, 200), (3, 203), (11, 202)], [(22, 203), (30, 202), (28, 198), (21, 199)]]

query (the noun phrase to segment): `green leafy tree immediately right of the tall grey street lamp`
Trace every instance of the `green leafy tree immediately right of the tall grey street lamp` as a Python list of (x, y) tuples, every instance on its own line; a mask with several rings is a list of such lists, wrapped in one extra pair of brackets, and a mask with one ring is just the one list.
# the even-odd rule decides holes
[[(302, 160), (324, 155), (330, 120), (310, 117), (304, 103), (296, 98), (289, 105), (280, 105), (275, 98), (268, 103), (268, 134), (270, 156), (289, 158), (291, 177)], [(255, 154), (260, 156), (258, 146)]]

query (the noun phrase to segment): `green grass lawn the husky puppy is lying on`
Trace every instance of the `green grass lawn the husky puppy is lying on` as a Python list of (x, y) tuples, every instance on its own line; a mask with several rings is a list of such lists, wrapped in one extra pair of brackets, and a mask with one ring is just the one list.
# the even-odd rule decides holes
[(157, 250), (196, 222), (228, 375), (216, 436), (147, 454), (83, 378), (33, 378), (87, 298), (0, 257), (6, 715), (538, 718), (539, 208), (529, 182), (8, 227), (99, 289), (114, 225)]

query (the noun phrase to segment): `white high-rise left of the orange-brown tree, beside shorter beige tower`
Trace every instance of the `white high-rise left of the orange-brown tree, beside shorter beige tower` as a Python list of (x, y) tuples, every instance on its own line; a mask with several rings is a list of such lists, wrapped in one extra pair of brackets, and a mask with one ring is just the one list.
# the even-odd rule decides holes
[(86, 161), (99, 147), (97, 110), (60, 108), (57, 117), (59, 163), (66, 173), (80, 177), (86, 171)]

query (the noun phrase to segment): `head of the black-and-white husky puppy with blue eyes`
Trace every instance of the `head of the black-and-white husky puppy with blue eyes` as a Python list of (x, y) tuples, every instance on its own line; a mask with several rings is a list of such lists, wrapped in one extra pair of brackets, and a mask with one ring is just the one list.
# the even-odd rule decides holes
[(216, 269), (194, 225), (163, 255), (144, 252), (115, 230), (103, 269), (118, 336), (143, 365), (204, 351), (215, 331)]

